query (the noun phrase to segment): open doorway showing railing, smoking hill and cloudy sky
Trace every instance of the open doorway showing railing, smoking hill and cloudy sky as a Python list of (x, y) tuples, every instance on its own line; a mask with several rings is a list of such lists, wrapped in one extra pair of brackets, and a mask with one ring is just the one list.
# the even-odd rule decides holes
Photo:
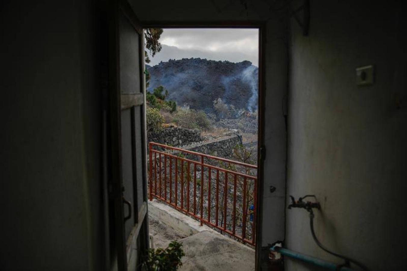
[[(216, 239), (239, 250), (230, 264), (254, 270), (259, 29), (147, 28), (144, 35), (150, 245), (179, 241), (196, 268), (210, 251), (205, 240)], [(221, 255), (216, 264), (228, 269)]]

